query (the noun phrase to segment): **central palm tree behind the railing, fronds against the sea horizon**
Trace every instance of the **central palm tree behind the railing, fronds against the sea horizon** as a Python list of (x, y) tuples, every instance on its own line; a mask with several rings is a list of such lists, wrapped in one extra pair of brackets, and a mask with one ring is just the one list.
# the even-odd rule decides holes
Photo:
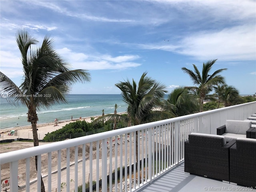
[[(124, 102), (128, 105), (126, 110), (127, 116), (120, 114), (107, 114), (102, 118), (108, 120), (118, 120), (128, 122), (128, 125), (139, 125), (156, 120), (171, 118), (168, 112), (156, 110), (161, 104), (161, 99), (166, 94), (166, 86), (160, 84), (156, 80), (146, 76), (144, 72), (137, 84), (134, 79), (132, 82), (129, 80), (115, 84), (121, 90), (121, 95)], [(138, 138), (138, 132), (136, 132)], [(138, 139), (136, 139), (136, 162), (138, 163)]]

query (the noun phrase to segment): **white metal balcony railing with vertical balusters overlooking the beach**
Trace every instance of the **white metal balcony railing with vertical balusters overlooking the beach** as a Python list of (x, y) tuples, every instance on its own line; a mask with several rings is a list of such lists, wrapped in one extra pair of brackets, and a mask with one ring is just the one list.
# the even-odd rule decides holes
[[(226, 120), (244, 120), (255, 112), (256, 102), (250, 102), (3, 153), (1, 182), (10, 178), (12, 192), (40, 192), (41, 176), (48, 192), (93, 191), (93, 186), (103, 192), (134, 191), (184, 160), (191, 132), (216, 134)], [(36, 174), (31, 173), (34, 156)], [(9, 175), (3, 174), (6, 167)]]

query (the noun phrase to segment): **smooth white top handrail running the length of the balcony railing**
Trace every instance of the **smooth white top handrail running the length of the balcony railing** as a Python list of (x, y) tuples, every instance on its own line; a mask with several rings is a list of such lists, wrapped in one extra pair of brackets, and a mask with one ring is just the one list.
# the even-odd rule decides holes
[(74, 147), (74, 146), (78, 146), (78, 145), (82, 145), (82, 144), (86, 144), (86, 143), (90, 143), (90, 142), (95, 142), (95, 141), (102, 140), (102, 139), (111, 138), (116, 135), (127, 134), (127, 133), (131, 133), (131, 132), (139, 131), (142, 129), (159, 126), (160, 124), (169, 124), (172, 122), (182, 121), (185, 119), (194, 118), (194, 117), (198, 117), (198, 116), (202, 116), (202, 115), (206, 115), (206, 114), (211, 114), (214, 112), (220, 112), (222, 110), (229, 110), (229, 109), (237, 108), (240, 106), (246, 106), (246, 105), (252, 104), (252, 103), (256, 104), (256, 101), (250, 102), (250, 103), (234, 105), (234, 106), (229, 106), (229, 107), (225, 107), (225, 108), (209, 110), (209, 111), (205, 111), (205, 112), (199, 112), (199, 113), (195, 113), (195, 114), (189, 114), (189, 115), (185, 115), (185, 116), (170, 118), (170, 119), (156, 121), (156, 122), (150, 122), (150, 123), (146, 123), (146, 124), (140, 124), (137, 126), (131, 126), (128, 129), (127, 129), (127, 127), (120, 128), (120, 129), (111, 130), (108, 132), (102, 132), (102, 133), (83, 136), (83, 137), (74, 138), (74, 139), (70, 139), (70, 140), (64, 140), (64, 141), (54, 142), (54, 143), (50, 143), (50, 144), (46, 144), (46, 145), (16, 150), (16, 151), (12, 151), (12, 152), (6, 152), (3, 154), (0, 154), (0, 162), (1, 162), (1, 164), (7, 163), (7, 162), (14, 162), (14, 161), (28, 158), (31, 156), (37, 156), (37, 155), (45, 154), (48, 152), (53, 152), (53, 151), (62, 150), (65, 148), (70, 148), (70, 147)]

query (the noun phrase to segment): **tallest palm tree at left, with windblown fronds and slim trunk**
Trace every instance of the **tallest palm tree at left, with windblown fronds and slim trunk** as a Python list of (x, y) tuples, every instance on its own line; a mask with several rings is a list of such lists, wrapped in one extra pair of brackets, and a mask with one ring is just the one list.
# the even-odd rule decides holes
[[(76, 82), (90, 81), (87, 70), (71, 70), (70, 66), (54, 50), (53, 40), (45, 36), (42, 46), (32, 49), (38, 41), (26, 30), (18, 30), (16, 42), (21, 52), (24, 78), (18, 87), (10, 78), (0, 72), (0, 92), (22, 95), (9, 99), (10, 103), (21, 102), (28, 108), (28, 122), (31, 122), (34, 146), (38, 146), (36, 110), (53, 104), (66, 102), (65, 95)], [(37, 156), (35, 156), (37, 170)], [(44, 192), (41, 177), (41, 192)]]

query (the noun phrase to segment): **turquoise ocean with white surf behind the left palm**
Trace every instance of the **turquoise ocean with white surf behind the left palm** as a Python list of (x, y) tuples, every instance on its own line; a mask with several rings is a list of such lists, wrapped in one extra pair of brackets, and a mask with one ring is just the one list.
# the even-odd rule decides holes
[[(64, 121), (71, 120), (71, 116), (73, 119), (98, 116), (102, 115), (103, 109), (104, 114), (114, 113), (115, 104), (118, 113), (126, 111), (127, 105), (120, 94), (69, 94), (67, 103), (37, 110), (38, 124), (54, 122), (55, 118)], [(14, 106), (0, 97), (0, 129), (30, 126), (27, 112), (25, 105)]]

